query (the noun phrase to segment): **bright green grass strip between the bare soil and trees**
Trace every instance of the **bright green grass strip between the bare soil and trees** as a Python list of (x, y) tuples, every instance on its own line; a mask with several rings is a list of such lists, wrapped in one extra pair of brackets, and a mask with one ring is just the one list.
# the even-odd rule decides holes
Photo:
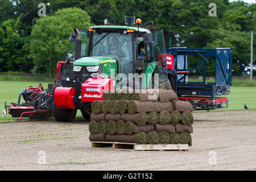
[[(47, 82), (42, 82), (42, 84), (47, 88)], [(5, 101), (7, 105), (10, 102), (16, 103), (18, 101), (19, 93), (23, 88), (28, 88), (28, 86), (38, 86), (38, 82), (24, 82), (24, 81), (0, 81), (0, 109), (5, 106)], [(241, 110), (243, 105), (246, 104), (249, 109), (256, 109), (256, 87), (255, 86), (232, 86), (230, 89), (231, 93), (225, 97), (228, 97), (229, 107), (228, 109), (222, 110)], [(23, 98), (21, 99), (21, 103)], [(82, 117), (81, 112), (77, 112), (77, 117)], [(16, 118), (13, 119), (15, 121)], [(10, 122), (11, 117), (7, 115), (5, 118), (0, 116), (0, 122)], [(23, 119), (23, 121), (26, 121)]]

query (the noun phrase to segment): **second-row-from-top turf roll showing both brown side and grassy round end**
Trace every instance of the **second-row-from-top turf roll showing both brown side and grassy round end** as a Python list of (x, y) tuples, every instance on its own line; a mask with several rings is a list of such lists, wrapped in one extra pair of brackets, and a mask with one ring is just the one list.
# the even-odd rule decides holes
[(127, 112), (129, 114), (135, 114), (140, 112), (152, 112), (155, 111), (155, 105), (153, 102), (140, 102), (130, 101), (127, 106)]

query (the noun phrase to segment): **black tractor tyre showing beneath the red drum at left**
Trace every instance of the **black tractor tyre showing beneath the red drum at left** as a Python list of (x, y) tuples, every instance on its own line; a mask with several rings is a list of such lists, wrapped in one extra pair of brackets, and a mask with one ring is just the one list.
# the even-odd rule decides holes
[(53, 115), (56, 121), (59, 122), (72, 122), (76, 117), (77, 109), (53, 109)]

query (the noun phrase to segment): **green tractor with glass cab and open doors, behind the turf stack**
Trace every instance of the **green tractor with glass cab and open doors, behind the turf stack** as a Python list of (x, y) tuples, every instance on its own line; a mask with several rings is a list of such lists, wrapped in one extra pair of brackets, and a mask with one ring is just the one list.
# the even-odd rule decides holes
[[(57, 121), (72, 121), (77, 109), (84, 118), (89, 118), (92, 101), (83, 100), (85, 94), (81, 89), (89, 78), (112, 78), (115, 88), (172, 89), (167, 77), (163, 30), (156, 31), (152, 23), (139, 27), (140, 19), (136, 20), (137, 27), (131, 26), (132, 19), (127, 22), (129, 26), (106, 23), (86, 31), (74, 28), (69, 38), (67, 59), (57, 63), (55, 82), (61, 88), (75, 89), (74, 103), (72, 106), (57, 103), (63, 100), (57, 101), (57, 94), (63, 93), (54, 92), (53, 114)], [(71, 91), (68, 92), (70, 97)]]

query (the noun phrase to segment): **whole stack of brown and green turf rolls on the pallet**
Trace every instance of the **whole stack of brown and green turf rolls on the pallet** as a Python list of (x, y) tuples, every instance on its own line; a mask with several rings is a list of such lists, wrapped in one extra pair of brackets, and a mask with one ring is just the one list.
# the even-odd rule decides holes
[(192, 105), (173, 90), (115, 90), (94, 101), (90, 141), (192, 146)]

